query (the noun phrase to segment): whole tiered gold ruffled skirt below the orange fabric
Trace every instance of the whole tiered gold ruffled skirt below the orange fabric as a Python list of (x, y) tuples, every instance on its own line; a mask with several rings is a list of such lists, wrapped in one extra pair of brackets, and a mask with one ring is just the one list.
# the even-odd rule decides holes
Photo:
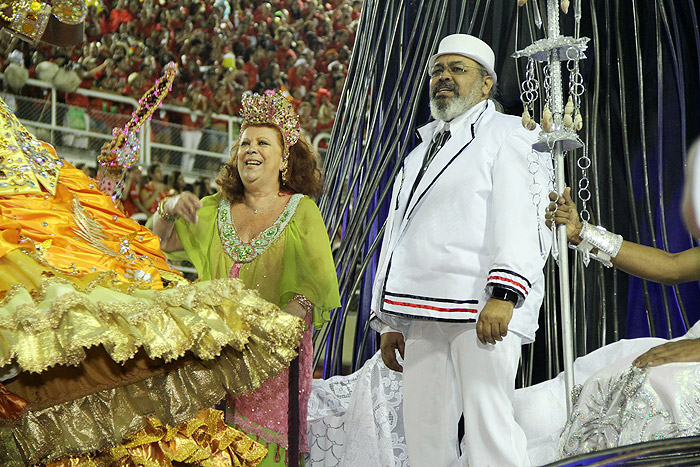
[[(17, 372), (3, 384), (27, 401), (0, 426), (0, 465), (257, 463), (222, 460), (254, 445), (201, 410), (286, 368), (300, 319), (234, 279), (141, 289), (110, 272), (65, 275), (20, 250), (0, 258), (0, 291), (0, 375)], [(144, 452), (155, 463), (130, 454)]]

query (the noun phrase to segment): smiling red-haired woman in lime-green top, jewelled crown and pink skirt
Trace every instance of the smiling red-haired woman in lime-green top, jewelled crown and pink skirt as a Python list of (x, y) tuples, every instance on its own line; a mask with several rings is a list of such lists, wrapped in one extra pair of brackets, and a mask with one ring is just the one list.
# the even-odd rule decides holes
[(229, 423), (268, 446), (261, 465), (298, 465), (308, 452), (310, 328), (340, 304), (328, 233), (313, 201), (323, 181), (281, 93), (245, 96), (242, 117), (231, 160), (217, 178), (219, 192), (201, 201), (191, 193), (163, 200), (152, 227), (163, 250), (187, 258), (203, 280), (240, 278), (306, 320), (297, 365), (252, 393), (229, 397), (227, 410)]

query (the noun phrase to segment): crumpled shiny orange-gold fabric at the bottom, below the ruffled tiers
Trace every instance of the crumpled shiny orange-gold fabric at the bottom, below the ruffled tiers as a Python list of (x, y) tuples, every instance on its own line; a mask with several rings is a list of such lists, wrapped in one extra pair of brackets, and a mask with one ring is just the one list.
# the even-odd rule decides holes
[(205, 409), (177, 427), (149, 418), (146, 428), (120, 446), (98, 455), (51, 462), (47, 467), (170, 467), (173, 463), (255, 467), (266, 455), (265, 446), (226, 425), (223, 412)]

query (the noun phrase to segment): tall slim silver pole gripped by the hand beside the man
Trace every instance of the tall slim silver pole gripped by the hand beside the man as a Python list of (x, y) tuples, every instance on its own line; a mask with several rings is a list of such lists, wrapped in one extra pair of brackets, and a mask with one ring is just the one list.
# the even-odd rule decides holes
[[(559, 34), (559, 1), (547, 0), (547, 33), (549, 38), (556, 38)], [(564, 117), (564, 92), (562, 89), (560, 50), (551, 51), (549, 67), (551, 72), (551, 98), (550, 106), (554, 119), (554, 130), (563, 128)], [(564, 150), (562, 143), (554, 144), (552, 154), (556, 161), (554, 183), (557, 193), (562, 194), (566, 186), (564, 179)], [(571, 298), (569, 289), (569, 255), (566, 238), (566, 225), (557, 227), (557, 242), (559, 245), (559, 307), (561, 314), (561, 337), (564, 354), (564, 371), (566, 387), (566, 408), (571, 413), (571, 391), (574, 387), (574, 351), (573, 330), (571, 325)]]

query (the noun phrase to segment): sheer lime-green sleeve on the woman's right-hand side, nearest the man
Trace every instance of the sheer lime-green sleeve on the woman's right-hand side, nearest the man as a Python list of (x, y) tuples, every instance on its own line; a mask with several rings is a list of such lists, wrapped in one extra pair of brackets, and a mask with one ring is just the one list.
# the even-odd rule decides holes
[(308, 197), (287, 226), (283, 264), (281, 303), (304, 295), (315, 305), (313, 324), (320, 328), (329, 320), (329, 311), (340, 306), (340, 295), (328, 232), (316, 203)]

